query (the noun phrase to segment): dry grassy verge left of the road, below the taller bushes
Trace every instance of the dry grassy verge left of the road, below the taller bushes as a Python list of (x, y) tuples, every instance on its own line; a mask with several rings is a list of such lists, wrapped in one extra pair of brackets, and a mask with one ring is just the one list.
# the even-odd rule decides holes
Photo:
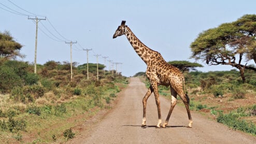
[[(67, 98), (63, 94), (61, 94), (63, 96), (58, 97), (52, 93), (49, 97), (38, 98), (41, 99), (42, 103), (35, 101), (28, 105), (12, 102), (9, 95), (0, 95), (0, 107), (3, 108), (0, 111), (0, 122), (7, 122), (11, 115), (13, 119), (26, 123), (24, 131), (13, 132), (1, 129), (0, 123), (0, 143), (19, 143), (22, 141), (62, 143), (67, 141), (68, 137), (73, 137), (73, 133), (76, 136), (79, 131), (67, 131), (66, 133), (70, 133), (67, 137), (64, 136), (64, 131), (82, 124), (102, 109), (111, 108), (111, 101), (116, 99), (117, 93), (127, 83), (120, 82), (118, 85), (119, 87), (113, 85), (113, 88), (93, 87), (94, 91), (89, 91), (87, 88), (79, 91), (76, 88), (78, 92)], [(111, 97), (108, 102), (105, 100), (107, 97)]]

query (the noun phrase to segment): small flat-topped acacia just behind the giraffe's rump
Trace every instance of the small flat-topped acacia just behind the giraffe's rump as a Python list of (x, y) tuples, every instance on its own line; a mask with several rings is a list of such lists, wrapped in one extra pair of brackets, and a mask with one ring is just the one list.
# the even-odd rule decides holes
[(201, 64), (191, 63), (189, 61), (169, 61), (168, 63), (179, 68), (182, 73), (184, 71), (196, 70), (196, 67), (203, 67)]

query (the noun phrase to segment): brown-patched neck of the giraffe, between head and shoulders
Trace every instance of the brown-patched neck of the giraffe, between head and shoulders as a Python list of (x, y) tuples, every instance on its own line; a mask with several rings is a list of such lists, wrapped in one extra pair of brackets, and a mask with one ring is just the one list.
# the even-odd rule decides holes
[(127, 27), (127, 32), (125, 36), (130, 41), (132, 47), (135, 52), (139, 55), (139, 57), (147, 64), (150, 60), (151, 55), (155, 52), (144, 45), (131, 31), (129, 27)]

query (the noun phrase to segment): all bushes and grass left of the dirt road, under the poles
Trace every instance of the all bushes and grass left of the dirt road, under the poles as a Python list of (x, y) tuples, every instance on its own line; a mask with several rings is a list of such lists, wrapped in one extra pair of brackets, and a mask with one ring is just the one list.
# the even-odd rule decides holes
[[(74, 64), (75, 65), (75, 64)], [(83, 65), (48, 61), (37, 65), (1, 59), (0, 143), (63, 142), (73, 138), (76, 125), (98, 111), (111, 108), (117, 93), (127, 84), (125, 77), (112, 76), (99, 65), (89, 64), (89, 80)], [(111, 71), (112, 72), (112, 71)]]

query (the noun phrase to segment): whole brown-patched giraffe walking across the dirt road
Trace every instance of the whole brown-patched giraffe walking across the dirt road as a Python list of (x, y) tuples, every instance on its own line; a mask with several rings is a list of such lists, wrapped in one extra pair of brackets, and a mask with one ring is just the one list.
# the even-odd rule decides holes
[[(171, 93), (171, 105), (167, 115), (165, 122), (162, 127), (166, 127), (168, 124), (170, 115), (177, 103), (177, 94), (182, 99), (184, 105), (186, 106), (188, 117), (189, 117), (189, 125), (188, 127), (192, 127), (192, 117), (189, 110), (189, 97), (185, 94), (184, 86), (184, 76), (180, 72), (178, 68), (168, 64), (162, 57), (162, 55), (148, 48), (144, 45), (131, 31), (131, 29), (125, 25), (125, 21), (121, 22), (121, 25), (118, 26), (113, 38), (118, 36), (125, 35), (127, 39), (130, 41), (132, 47), (135, 52), (140, 56), (140, 58), (147, 64), (146, 76), (150, 81), (150, 87), (143, 98), (143, 122), (141, 127), (146, 126), (146, 104), (151, 93), (154, 93), (155, 103), (158, 108), (158, 124), (156, 128), (160, 128), (162, 124), (161, 119), (161, 110), (160, 110), (160, 99), (158, 93), (158, 85), (165, 85), (166, 87), (170, 86)], [(183, 90), (184, 88), (184, 90)]]

